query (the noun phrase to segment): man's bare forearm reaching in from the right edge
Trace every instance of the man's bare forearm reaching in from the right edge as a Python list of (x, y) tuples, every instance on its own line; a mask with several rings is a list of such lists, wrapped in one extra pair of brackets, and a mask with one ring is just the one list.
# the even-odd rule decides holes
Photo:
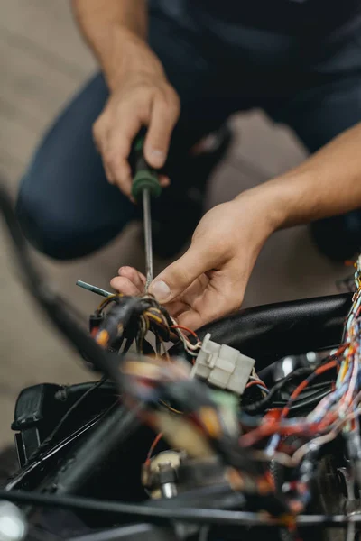
[(259, 202), (274, 229), (361, 207), (361, 124), (342, 133), (301, 166), (238, 198)]

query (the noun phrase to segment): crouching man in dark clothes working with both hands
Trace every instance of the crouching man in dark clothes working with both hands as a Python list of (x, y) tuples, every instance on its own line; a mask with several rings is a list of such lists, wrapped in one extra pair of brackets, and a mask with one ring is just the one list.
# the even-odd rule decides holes
[[(361, 236), (360, 214), (350, 213), (361, 207), (359, 4), (73, 0), (102, 75), (47, 133), (23, 179), (17, 210), (29, 239), (70, 259), (118, 234), (137, 212), (128, 159), (146, 126), (145, 158), (164, 186), (171, 181), (155, 209), (154, 247), (173, 255), (200, 217), (190, 188), (201, 196), (227, 151), (228, 116), (256, 106), (313, 156), (208, 212), (151, 291), (196, 328), (241, 305), (259, 251), (281, 227), (312, 222), (322, 252), (352, 256)], [(133, 294), (143, 280), (125, 268), (112, 285)]]

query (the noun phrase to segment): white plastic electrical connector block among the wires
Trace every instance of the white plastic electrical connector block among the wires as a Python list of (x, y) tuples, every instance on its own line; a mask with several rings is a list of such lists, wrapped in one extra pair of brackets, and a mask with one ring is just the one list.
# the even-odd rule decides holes
[(226, 344), (211, 342), (206, 335), (190, 375), (218, 389), (242, 395), (255, 366), (255, 359), (247, 357)]

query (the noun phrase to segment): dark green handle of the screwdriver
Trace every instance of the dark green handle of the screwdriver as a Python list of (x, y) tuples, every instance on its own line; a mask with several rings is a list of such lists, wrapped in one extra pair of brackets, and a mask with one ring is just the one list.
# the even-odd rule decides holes
[(149, 189), (153, 197), (159, 197), (162, 192), (162, 186), (159, 182), (158, 174), (151, 168), (144, 159), (143, 155), (144, 138), (139, 137), (135, 142), (135, 171), (132, 185), (132, 196), (137, 201), (144, 188)]

